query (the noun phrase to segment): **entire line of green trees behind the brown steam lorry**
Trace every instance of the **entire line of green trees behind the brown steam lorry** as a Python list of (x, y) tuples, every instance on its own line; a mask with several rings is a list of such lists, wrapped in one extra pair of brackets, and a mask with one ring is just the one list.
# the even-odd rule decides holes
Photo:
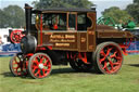
[[(39, 0), (33, 1), (35, 9), (47, 8), (86, 8), (90, 9), (93, 5), (88, 0)], [(117, 6), (105, 9), (102, 12), (103, 16), (112, 17), (116, 24), (134, 19), (139, 24), (139, 0), (134, 0), (134, 3), (127, 5), (125, 10)], [(25, 12), (18, 5), (9, 5), (0, 9), (0, 28), (21, 28), (25, 26)]]

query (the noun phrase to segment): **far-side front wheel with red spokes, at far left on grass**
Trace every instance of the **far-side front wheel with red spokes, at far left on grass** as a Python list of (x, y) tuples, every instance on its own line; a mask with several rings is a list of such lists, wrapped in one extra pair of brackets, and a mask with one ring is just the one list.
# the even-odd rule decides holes
[(15, 77), (27, 75), (26, 62), (24, 61), (24, 56), (22, 53), (17, 53), (11, 58), (10, 70)]

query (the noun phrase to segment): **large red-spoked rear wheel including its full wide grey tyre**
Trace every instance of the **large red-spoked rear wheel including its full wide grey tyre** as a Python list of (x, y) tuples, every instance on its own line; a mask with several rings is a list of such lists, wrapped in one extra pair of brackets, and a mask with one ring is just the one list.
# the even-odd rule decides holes
[(122, 67), (122, 49), (114, 42), (99, 44), (93, 55), (93, 63), (98, 73), (116, 74)]

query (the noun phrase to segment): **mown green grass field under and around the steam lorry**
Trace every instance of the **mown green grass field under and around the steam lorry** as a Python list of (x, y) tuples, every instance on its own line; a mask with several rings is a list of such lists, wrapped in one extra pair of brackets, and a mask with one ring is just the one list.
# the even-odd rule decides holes
[(139, 92), (139, 55), (125, 56), (116, 75), (75, 73), (70, 66), (53, 66), (45, 79), (13, 77), (10, 57), (0, 57), (0, 92)]

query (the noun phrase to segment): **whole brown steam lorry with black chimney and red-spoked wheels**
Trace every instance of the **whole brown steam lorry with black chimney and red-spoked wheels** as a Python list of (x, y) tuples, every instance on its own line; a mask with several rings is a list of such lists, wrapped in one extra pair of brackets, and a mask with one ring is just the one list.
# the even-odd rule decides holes
[(25, 4), (25, 14), (22, 53), (10, 61), (14, 76), (45, 78), (52, 65), (68, 63), (77, 71), (94, 67), (98, 73), (116, 74), (121, 69), (127, 47), (124, 42), (132, 35), (97, 26), (96, 9), (33, 10)]

